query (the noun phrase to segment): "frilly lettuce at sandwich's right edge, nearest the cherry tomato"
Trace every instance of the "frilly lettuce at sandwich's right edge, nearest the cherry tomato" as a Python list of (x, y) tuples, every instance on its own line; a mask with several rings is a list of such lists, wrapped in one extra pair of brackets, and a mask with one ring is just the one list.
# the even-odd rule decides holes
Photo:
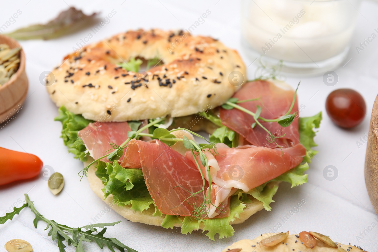
[(303, 158), (304, 162), (311, 162), (311, 158), (318, 153), (318, 151), (311, 149), (318, 146), (314, 142), (315, 131), (313, 128), (319, 128), (322, 120), (322, 111), (311, 117), (299, 117), (299, 141), (306, 148), (307, 153)]

